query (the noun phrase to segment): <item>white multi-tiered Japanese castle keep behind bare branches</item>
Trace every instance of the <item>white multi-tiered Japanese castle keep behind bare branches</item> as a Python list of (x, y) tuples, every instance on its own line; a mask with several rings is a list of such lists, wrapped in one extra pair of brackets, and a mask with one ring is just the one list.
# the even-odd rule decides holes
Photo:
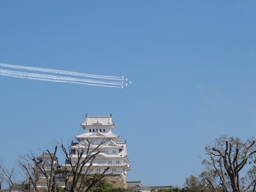
[[(126, 176), (126, 172), (131, 170), (127, 158), (127, 145), (126, 141), (121, 142), (121, 137), (112, 133), (116, 129), (115, 124), (112, 122), (112, 115), (109, 117), (88, 117), (81, 123), (81, 127), (85, 130), (82, 135), (77, 135), (75, 138), (78, 142), (71, 144), (71, 160), (72, 163), (77, 163), (78, 153), (90, 144), (90, 151), (102, 143), (96, 151), (100, 151), (89, 171), (90, 174), (103, 173), (107, 167), (110, 167), (105, 174), (117, 174)], [(86, 153), (83, 154), (86, 157)], [(90, 162), (84, 165), (83, 172), (86, 172)], [(71, 165), (66, 161), (62, 164), (63, 167), (70, 169)]]

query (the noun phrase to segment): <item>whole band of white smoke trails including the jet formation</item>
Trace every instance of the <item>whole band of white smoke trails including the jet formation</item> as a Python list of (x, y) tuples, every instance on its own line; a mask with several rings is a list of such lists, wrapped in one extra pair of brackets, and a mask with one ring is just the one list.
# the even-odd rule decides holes
[[(86, 84), (89, 86), (123, 88), (124, 86), (127, 86), (127, 83), (124, 83), (123, 81), (128, 80), (127, 78), (124, 79), (123, 76), (115, 77), (115, 76), (104, 76), (104, 75), (91, 75), (86, 73), (77, 73), (77, 72), (63, 71), (63, 70), (16, 66), (16, 65), (4, 64), (4, 63), (0, 63), (0, 67), (11, 68), (16, 70), (28, 70), (28, 71), (38, 71), (43, 73), (62, 74), (62, 76), (59, 76), (59, 75), (39, 74), (39, 73), (0, 69), (0, 75), (4, 75), (4, 76), (15, 77), (15, 78), (25, 78), (25, 79), (32, 79), (32, 80), (41, 80), (41, 81), (51, 81), (51, 82)], [(88, 77), (92, 79), (75, 78), (75, 77), (68, 77), (63, 75)], [(100, 79), (111, 79), (115, 81), (100, 80)], [(132, 83), (132, 81), (130, 81), (130, 83)]]

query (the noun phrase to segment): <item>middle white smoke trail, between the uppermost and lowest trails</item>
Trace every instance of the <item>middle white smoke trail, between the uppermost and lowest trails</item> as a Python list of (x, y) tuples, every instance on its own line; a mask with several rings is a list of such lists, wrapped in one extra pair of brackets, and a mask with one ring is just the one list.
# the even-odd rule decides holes
[(91, 82), (91, 83), (101, 83), (101, 84), (117, 84), (117, 85), (123, 84), (123, 82), (98, 81), (98, 80), (64, 77), (64, 76), (56, 76), (56, 75), (45, 75), (45, 74), (38, 74), (38, 73), (27, 73), (27, 72), (19, 72), (19, 71), (11, 71), (11, 70), (3, 70), (3, 69), (0, 69), (0, 72), (5, 73), (5, 74), (10, 74), (10, 75), (25, 76), (25, 77), (32, 77), (32, 78), (45, 78), (45, 79), (54, 79), (54, 80), (65, 80), (65, 81), (80, 81), (80, 82)]

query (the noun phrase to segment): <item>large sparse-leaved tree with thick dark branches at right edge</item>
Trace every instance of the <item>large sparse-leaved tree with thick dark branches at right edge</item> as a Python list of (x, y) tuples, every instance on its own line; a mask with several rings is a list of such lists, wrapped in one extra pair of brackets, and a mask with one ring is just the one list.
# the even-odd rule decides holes
[[(253, 138), (242, 142), (238, 138), (221, 136), (214, 144), (205, 147), (210, 160), (203, 160), (206, 171), (200, 177), (211, 188), (217, 191), (244, 192), (256, 187), (256, 144)], [(246, 166), (248, 171), (240, 177)]]

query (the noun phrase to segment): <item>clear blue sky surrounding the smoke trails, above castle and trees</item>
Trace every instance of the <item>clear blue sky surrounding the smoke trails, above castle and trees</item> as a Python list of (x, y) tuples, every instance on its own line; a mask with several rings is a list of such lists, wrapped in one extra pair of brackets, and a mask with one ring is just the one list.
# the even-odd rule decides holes
[(133, 81), (121, 89), (0, 75), (4, 164), (71, 142), (87, 113), (112, 113), (132, 160), (127, 181), (182, 187), (202, 172), (205, 145), (255, 136), (255, 34), (254, 0), (0, 1), (0, 63)]

